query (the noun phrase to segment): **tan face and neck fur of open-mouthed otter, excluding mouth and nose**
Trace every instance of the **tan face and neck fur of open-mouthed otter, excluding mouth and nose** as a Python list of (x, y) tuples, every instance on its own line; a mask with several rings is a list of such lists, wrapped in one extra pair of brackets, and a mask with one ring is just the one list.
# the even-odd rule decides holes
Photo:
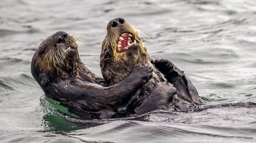
[[(160, 74), (154, 65), (151, 63), (151, 57), (147, 52), (147, 48), (140, 40), (138, 35), (142, 36), (140, 30), (135, 29), (133, 26), (124, 22), (121, 27), (107, 26), (107, 35), (102, 43), (102, 51), (100, 55), (100, 68), (102, 76), (109, 86), (114, 85), (126, 76), (137, 66), (150, 65), (154, 68), (152, 80), (161, 81)], [(136, 40), (137, 47), (130, 47), (132, 49), (123, 50), (118, 52), (117, 43), (119, 36), (123, 33), (132, 35), (132, 39)], [(145, 35), (144, 35), (145, 36)], [(143, 36), (142, 36), (143, 37)]]

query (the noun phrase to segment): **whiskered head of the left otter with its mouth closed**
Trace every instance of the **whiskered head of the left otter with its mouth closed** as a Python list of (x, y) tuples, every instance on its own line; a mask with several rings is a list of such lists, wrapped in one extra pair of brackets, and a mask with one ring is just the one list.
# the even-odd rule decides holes
[(80, 62), (77, 43), (76, 36), (56, 32), (40, 44), (31, 62), (31, 73), (41, 87), (57, 78), (75, 76), (74, 68)]

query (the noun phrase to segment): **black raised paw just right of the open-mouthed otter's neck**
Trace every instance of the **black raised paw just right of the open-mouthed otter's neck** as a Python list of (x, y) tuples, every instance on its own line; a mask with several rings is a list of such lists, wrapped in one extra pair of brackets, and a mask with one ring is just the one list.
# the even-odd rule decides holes
[(157, 67), (157, 69), (164, 75), (168, 74), (173, 70), (173, 63), (168, 59), (156, 59), (154, 64)]

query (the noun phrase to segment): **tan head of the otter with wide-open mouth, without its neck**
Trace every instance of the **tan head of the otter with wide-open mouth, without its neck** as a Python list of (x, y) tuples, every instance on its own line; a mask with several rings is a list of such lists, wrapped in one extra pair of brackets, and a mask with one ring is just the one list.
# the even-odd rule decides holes
[(102, 52), (107, 50), (117, 63), (123, 64), (120, 66), (134, 68), (147, 64), (150, 56), (138, 37), (139, 34), (141, 34), (140, 30), (135, 29), (125, 19), (112, 19), (107, 24), (107, 35), (102, 43)]

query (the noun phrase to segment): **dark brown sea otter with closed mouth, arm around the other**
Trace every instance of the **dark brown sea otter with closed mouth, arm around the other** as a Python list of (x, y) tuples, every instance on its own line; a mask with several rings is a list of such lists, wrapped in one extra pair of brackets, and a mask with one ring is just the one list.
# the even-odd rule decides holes
[(117, 84), (104, 87), (105, 81), (90, 72), (78, 54), (78, 39), (56, 32), (36, 50), (31, 73), (48, 98), (60, 101), (83, 119), (116, 117), (152, 77), (150, 66), (138, 66)]

